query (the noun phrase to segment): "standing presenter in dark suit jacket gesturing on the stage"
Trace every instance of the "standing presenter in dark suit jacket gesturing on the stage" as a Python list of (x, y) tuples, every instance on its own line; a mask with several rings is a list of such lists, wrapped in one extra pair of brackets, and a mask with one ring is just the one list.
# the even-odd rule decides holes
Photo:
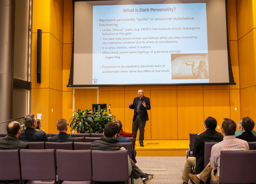
[(146, 126), (146, 121), (148, 121), (148, 112), (150, 110), (150, 101), (149, 98), (143, 96), (144, 91), (142, 89), (138, 90), (138, 97), (133, 99), (133, 104), (128, 101), (127, 104), (129, 108), (134, 109), (133, 119), (132, 119), (132, 136), (134, 143), (137, 137), (138, 128), (140, 130), (139, 143), (140, 146), (143, 145), (144, 140), (144, 131)]

